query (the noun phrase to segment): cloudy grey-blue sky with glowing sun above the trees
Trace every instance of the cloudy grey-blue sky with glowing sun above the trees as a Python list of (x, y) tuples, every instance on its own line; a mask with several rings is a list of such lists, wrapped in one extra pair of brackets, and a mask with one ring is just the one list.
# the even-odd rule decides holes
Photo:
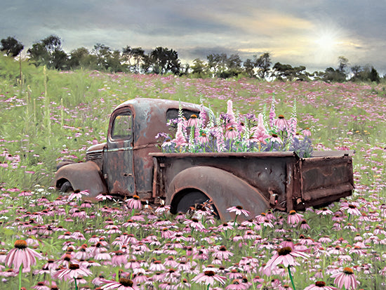
[[(353, 65), (386, 73), (385, 0), (1, 0), (0, 39), (27, 48), (53, 34), (69, 53), (157, 46), (182, 64), (210, 53), (241, 60), (268, 52), (273, 63), (307, 70)], [(24, 51), (24, 53), (25, 53)]]

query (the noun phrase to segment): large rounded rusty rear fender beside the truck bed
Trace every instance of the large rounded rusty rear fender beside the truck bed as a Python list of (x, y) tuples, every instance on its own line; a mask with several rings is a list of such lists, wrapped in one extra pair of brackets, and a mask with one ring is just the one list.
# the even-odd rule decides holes
[(234, 220), (235, 213), (227, 211), (232, 206), (242, 206), (251, 218), (269, 209), (269, 201), (241, 178), (215, 167), (195, 166), (178, 173), (168, 186), (166, 204), (171, 204), (171, 212), (183, 195), (197, 190), (212, 200), (221, 220)]

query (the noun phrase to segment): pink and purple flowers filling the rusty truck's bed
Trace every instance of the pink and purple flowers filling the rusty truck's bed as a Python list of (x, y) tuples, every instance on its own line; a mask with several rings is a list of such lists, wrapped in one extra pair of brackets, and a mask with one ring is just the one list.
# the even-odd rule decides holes
[(217, 118), (206, 114), (201, 105), (198, 116), (186, 119), (180, 108), (178, 118), (168, 121), (175, 133), (159, 133), (156, 138), (163, 152), (293, 151), (301, 158), (311, 157), (310, 130), (298, 133), (296, 106), (287, 120), (281, 114), (276, 116), (274, 103), (273, 97), (268, 120), (261, 113), (257, 117), (234, 114), (232, 100), (227, 101), (227, 112)]

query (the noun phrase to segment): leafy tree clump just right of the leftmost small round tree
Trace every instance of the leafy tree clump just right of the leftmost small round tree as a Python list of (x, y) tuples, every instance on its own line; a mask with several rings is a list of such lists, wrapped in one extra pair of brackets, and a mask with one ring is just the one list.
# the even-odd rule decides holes
[(46, 65), (48, 68), (63, 70), (67, 67), (68, 56), (65, 51), (62, 51), (61, 46), (60, 37), (55, 35), (41, 39), (28, 49), (29, 61), (34, 63), (36, 67)]

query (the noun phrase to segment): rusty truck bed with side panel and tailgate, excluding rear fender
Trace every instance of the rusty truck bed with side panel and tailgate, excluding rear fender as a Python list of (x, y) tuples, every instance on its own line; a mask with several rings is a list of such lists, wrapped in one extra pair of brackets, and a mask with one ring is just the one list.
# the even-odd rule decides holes
[(173, 189), (169, 188), (173, 178), (194, 166), (232, 173), (254, 187), (271, 208), (281, 211), (303, 210), (308, 206), (335, 202), (351, 195), (354, 189), (352, 151), (314, 152), (314, 157), (310, 158), (299, 158), (294, 152), (150, 155), (154, 159), (153, 196), (166, 197), (167, 200), (167, 195), (173, 195)]

